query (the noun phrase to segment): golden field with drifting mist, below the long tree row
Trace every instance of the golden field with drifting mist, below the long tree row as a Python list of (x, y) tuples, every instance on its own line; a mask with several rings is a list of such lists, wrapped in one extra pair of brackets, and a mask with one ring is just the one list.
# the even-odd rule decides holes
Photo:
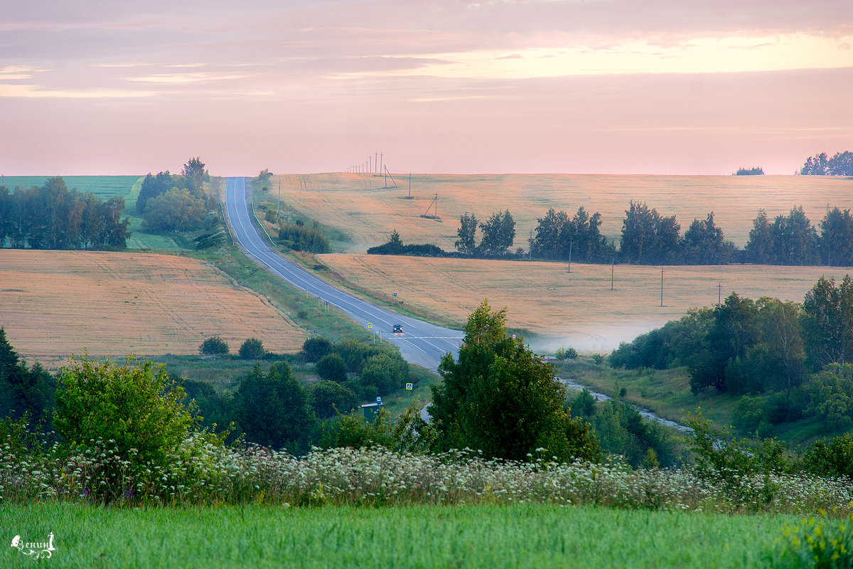
[[(803, 301), (817, 279), (839, 281), (849, 269), (767, 265), (656, 267), (385, 255), (318, 255), (360, 287), (461, 326), (489, 299), (508, 307), (508, 325), (540, 336), (534, 347), (610, 351), (620, 341), (676, 320), (693, 306), (717, 304), (718, 293)], [(661, 307), (661, 270), (664, 306)], [(719, 288), (718, 288), (719, 286)]]

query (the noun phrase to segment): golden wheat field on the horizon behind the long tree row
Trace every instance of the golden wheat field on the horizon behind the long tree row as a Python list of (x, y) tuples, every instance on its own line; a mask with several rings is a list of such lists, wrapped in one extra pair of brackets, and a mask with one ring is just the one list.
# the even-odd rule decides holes
[[(514, 247), (527, 248), (530, 231), (549, 207), (570, 215), (579, 206), (601, 212), (601, 232), (617, 239), (629, 200), (647, 202), (660, 213), (675, 215), (682, 233), (693, 218), (714, 220), (727, 239), (744, 247), (752, 220), (763, 208), (772, 219), (803, 206), (818, 226), (827, 206), (853, 206), (853, 180), (824, 176), (639, 176), (602, 174), (394, 174), (398, 188), (386, 189), (385, 178), (374, 174), (310, 174), (276, 176), (270, 190), (255, 194), (281, 201), (322, 224), (351, 235), (347, 253), (363, 253), (384, 243), (397, 229), (406, 243), (430, 242), (452, 250), (458, 238), (459, 218), (473, 212), (485, 220), (492, 212), (508, 209), (516, 221)], [(389, 179), (387, 184), (392, 185)], [(430, 207), (438, 195), (440, 221)]]

